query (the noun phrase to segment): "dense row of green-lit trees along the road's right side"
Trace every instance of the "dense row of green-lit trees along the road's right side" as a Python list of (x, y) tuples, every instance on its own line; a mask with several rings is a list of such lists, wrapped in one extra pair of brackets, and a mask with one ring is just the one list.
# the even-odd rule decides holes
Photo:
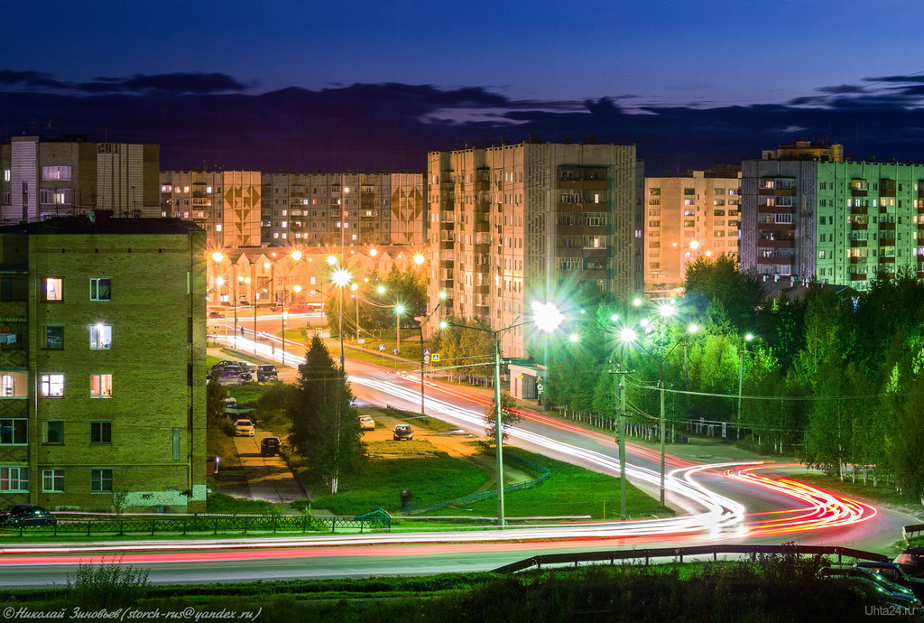
[[(760, 277), (722, 256), (688, 266), (686, 296), (669, 319), (650, 304), (582, 296), (587, 313), (572, 327), (580, 342), (550, 354), (553, 402), (615, 413), (613, 373), (628, 370), (627, 411), (653, 425), (663, 378), (665, 415), (675, 425), (724, 421), (730, 436), (740, 427), (743, 441), (762, 451), (795, 449), (842, 477), (894, 477), (906, 495), (924, 495), (924, 282), (917, 275), (878, 276), (859, 292), (815, 283), (804, 298), (767, 299)], [(646, 316), (651, 322), (641, 328)], [(637, 328), (636, 342), (618, 338), (626, 325)]]

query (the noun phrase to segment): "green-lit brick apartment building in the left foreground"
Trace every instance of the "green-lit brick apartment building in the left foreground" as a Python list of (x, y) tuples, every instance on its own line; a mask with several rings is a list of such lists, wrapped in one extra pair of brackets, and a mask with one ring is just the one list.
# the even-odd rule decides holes
[(0, 506), (205, 508), (205, 233), (0, 227)]

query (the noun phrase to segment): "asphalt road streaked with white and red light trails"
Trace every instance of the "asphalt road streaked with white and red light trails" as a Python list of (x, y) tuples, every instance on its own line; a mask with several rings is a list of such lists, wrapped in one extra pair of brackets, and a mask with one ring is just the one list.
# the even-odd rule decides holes
[[(291, 345), (288, 352), (304, 352)], [(247, 349), (247, 348), (243, 348)], [(333, 353), (332, 353), (333, 354)], [(290, 364), (294, 360), (289, 361)], [(358, 361), (347, 372), (359, 402), (419, 409), (419, 379)], [(407, 375), (412, 376), (412, 375)], [(482, 392), (428, 385), (427, 412), (462, 428), (480, 432)], [(542, 414), (511, 431), (512, 443), (532, 452), (567, 460), (592, 470), (617, 474), (611, 436)], [(626, 444), (629, 479), (658, 494), (660, 455), (649, 447)], [(703, 464), (677, 456), (684, 446), (669, 446), (666, 499), (680, 511), (676, 518), (606, 521), (506, 531), (415, 532), (327, 535), (308, 539), (213, 544), (181, 541), (76, 547), (22, 545), (5, 547), (0, 582), (6, 586), (62, 583), (79, 560), (97, 561), (120, 554), (123, 563), (151, 571), (166, 581), (323, 578), (387, 574), (429, 574), (496, 568), (536, 552), (573, 552), (639, 546), (708, 543), (837, 544), (887, 551), (900, 538), (901, 526), (918, 519), (877, 509), (788, 480), (797, 466), (765, 465), (747, 457)], [(154, 551), (165, 549), (166, 551)]]

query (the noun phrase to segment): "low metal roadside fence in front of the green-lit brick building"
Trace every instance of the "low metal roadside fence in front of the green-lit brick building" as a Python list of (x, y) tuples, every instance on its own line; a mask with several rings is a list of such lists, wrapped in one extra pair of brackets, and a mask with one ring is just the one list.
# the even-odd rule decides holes
[(0, 526), (0, 535), (17, 534), (162, 534), (221, 532), (322, 532), (322, 531), (391, 531), (392, 518), (387, 513), (372, 512), (358, 517), (312, 517), (310, 515), (201, 516), (176, 519), (57, 519), (54, 526)]

